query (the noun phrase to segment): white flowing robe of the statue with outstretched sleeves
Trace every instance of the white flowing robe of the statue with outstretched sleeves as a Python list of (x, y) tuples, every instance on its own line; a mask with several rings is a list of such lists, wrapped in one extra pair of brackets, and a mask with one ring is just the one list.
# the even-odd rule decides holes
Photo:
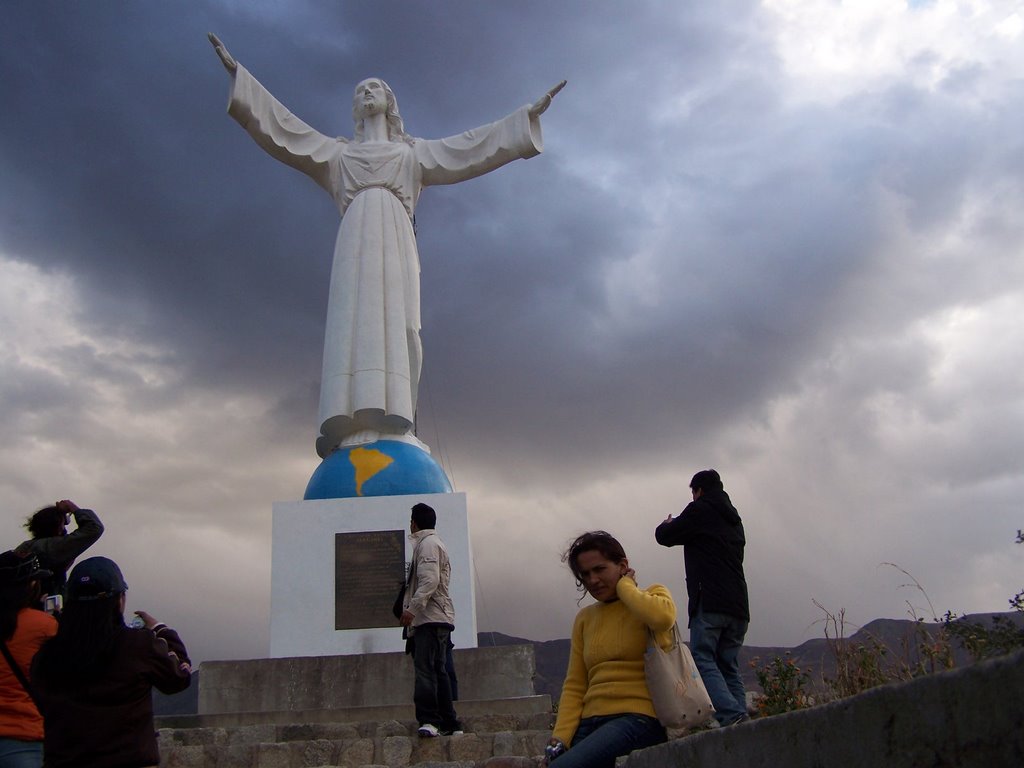
[(413, 232), (420, 190), (540, 154), (541, 124), (528, 109), (450, 138), (349, 141), (310, 128), (239, 66), (228, 113), (269, 155), (327, 189), (341, 214), (324, 340), (321, 456), (364, 430), (412, 428), (422, 356)]

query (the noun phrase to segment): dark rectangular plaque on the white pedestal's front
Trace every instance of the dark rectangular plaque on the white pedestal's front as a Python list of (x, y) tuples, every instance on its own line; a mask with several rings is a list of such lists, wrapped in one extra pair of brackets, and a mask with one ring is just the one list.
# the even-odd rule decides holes
[(397, 627), (391, 607), (404, 578), (404, 530), (335, 534), (334, 628)]

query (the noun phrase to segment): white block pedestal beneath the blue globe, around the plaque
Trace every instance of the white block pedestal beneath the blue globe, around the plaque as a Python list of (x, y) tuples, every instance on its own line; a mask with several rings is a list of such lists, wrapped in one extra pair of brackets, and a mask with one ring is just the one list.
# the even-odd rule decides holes
[[(476, 600), (465, 494), (275, 502), (270, 555), (270, 657), (401, 651), (401, 628), (335, 629), (335, 536), (401, 530), (406, 561), (414, 504), (437, 513), (437, 534), (452, 562), (457, 648), (476, 647)], [(399, 575), (400, 578), (400, 575)], [(397, 594), (397, 583), (395, 594)], [(352, 596), (351, 599), (358, 599)]]

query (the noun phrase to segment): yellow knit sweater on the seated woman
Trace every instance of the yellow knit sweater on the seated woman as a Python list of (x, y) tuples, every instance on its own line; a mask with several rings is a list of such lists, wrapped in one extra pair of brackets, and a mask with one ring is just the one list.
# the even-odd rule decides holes
[(572, 625), (569, 666), (552, 733), (566, 744), (582, 718), (628, 712), (655, 717), (643, 671), (647, 627), (668, 648), (676, 604), (662, 585), (641, 590), (628, 577), (618, 580), (615, 592), (616, 601), (588, 605)]

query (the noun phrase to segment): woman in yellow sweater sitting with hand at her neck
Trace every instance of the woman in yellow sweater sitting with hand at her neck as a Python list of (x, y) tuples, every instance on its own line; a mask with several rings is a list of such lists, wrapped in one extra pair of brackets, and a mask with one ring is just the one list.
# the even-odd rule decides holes
[(671, 644), (676, 605), (659, 584), (637, 587), (623, 546), (603, 530), (578, 538), (562, 559), (581, 591), (597, 602), (572, 625), (548, 757), (557, 768), (614, 768), (616, 757), (666, 740), (647, 691), (643, 654), (648, 627), (663, 647)]

